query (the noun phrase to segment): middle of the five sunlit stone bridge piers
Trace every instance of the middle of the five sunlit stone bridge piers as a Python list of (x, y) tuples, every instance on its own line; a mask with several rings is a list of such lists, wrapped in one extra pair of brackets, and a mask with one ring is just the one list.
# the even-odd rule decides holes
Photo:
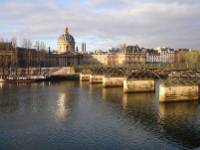
[(124, 77), (104, 77), (103, 87), (123, 87)]

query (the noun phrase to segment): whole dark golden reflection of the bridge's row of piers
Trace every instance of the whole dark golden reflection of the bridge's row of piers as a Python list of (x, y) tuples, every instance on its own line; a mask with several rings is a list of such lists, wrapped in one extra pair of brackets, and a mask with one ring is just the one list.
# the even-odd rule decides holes
[(168, 142), (176, 140), (191, 149), (199, 146), (196, 142), (199, 139), (198, 102), (158, 104), (152, 93), (123, 94), (119, 88), (101, 89), (99, 85), (85, 85), (92, 88), (95, 96), (102, 95), (104, 103), (112, 104), (110, 110), (114, 111), (113, 114), (119, 117), (123, 112), (125, 122), (132, 127), (139, 126), (144, 134), (159, 139), (167, 137)]

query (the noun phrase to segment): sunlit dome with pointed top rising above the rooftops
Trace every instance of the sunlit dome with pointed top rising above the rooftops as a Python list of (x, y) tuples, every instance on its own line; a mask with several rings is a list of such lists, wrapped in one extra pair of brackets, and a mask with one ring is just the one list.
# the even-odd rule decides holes
[(69, 34), (68, 28), (65, 28), (64, 34), (58, 38), (58, 54), (73, 53), (75, 51), (75, 40)]

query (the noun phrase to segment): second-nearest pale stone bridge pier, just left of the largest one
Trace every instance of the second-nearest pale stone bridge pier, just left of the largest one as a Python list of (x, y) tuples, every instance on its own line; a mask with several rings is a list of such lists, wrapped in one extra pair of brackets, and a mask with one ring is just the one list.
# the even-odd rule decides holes
[(125, 93), (154, 92), (155, 81), (153, 79), (125, 79), (123, 91)]

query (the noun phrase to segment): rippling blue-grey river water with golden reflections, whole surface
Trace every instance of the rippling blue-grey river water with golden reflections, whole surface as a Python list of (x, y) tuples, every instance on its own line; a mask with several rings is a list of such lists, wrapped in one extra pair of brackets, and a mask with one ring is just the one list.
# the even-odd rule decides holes
[(200, 146), (198, 102), (79, 82), (0, 84), (0, 150), (173, 150)]

